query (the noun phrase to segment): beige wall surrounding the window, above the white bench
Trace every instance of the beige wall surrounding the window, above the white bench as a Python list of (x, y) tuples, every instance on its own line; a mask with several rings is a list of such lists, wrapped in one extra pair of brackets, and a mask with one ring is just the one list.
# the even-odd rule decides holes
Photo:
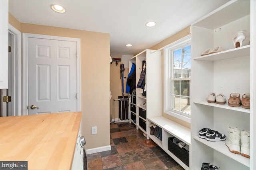
[[(164, 41), (154, 45), (153, 47), (151, 47), (150, 49), (154, 49), (154, 50), (158, 50), (161, 49), (162, 47), (173, 43), (174, 41), (177, 41), (178, 39), (181, 39), (182, 37), (187, 36), (190, 33), (190, 27), (186, 27), (185, 29), (182, 29), (181, 31), (179, 31), (178, 33), (172, 35), (171, 37), (168, 37), (167, 39), (165, 39)], [(164, 52), (162, 50), (162, 116), (166, 117), (172, 121), (175, 121), (177, 123), (180, 123), (181, 125), (184, 125), (185, 127), (190, 128), (190, 123), (186, 122), (186, 121), (182, 121), (180, 119), (177, 119), (176, 117), (170, 116), (166, 113), (163, 112), (164, 110)]]

